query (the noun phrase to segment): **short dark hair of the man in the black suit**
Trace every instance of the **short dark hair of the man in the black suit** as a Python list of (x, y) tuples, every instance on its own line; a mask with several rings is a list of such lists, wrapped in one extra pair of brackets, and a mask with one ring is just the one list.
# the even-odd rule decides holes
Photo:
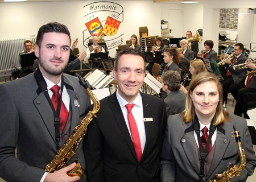
[(146, 60), (145, 60), (145, 56), (144, 53), (141, 51), (138, 51), (137, 49), (131, 49), (131, 48), (127, 48), (127, 49), (122, 49), (122, 51), (119, 51), (116, 55), (115, 55), (115, 61), (114, 61), (114, 69), (115, 71), (117, 71), (118, 68), (118, 60), (120, 59), (120, 57), (122, 55), (134, 55), (134, 56), (141, 56), (143, 61), (144, 61), (144, 71), (146, 70)]

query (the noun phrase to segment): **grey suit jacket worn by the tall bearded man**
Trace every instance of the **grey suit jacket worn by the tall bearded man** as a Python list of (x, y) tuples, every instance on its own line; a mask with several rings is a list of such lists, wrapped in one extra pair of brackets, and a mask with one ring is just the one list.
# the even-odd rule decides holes
[[(64, 84), (70, 96), (72, 133), (87, 113), (89, 97), (76, 77), (64, 74)], [(0, 107), (5, 108), (0, 114), (0, 177), (6, 181), (40, 181), (57, 145), (53, 111), (34, 73), (0, 85)], [(85, 172), (82, 142), (69, 164), (79, 158)]]

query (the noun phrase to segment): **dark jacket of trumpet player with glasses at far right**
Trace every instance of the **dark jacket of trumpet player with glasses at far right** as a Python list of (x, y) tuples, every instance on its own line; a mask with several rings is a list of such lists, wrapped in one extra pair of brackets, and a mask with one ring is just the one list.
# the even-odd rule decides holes
[[(240, 69), (238, 67), (236, 69), (234, 69), (232, 66), (234, 59), (235, 59), (235, 57), (233, 57), (233, 59), (231, 60), (232, 64), (228, 65), (228, 67), (226, 69), (227, 69), (227, 71), (230, 70), (231, 76), (234, 80), (234, 84), (237, 84), (242, 80), (243, 77), (246, 76), (246, 71), (245, 71), (245, 69)], [(245, 55), (241, 54), (237, 58), (236, 63), (234, 65), (245, 63), (246, 59), (247, 59), (247, 57)]]

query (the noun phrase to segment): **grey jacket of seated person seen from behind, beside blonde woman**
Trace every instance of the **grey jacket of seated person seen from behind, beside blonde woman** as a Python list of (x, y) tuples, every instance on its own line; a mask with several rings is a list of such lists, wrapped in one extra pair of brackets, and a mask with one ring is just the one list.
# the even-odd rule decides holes
[(164, 98), (167, 116), (181, 113), (181, 111), (185, 109), (185, 102), (186, 94), (182, 90), (171, 91), (167, 97)]

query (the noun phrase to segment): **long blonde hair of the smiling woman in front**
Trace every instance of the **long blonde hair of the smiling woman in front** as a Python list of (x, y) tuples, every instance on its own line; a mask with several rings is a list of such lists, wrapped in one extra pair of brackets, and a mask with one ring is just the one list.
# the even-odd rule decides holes
[(192, 98), (190, 97), (190, 93), (193, 92), (196, 86), (201, 85), (208, 81), (212, 81), (216, 84), (218, 88), (218, 94), (219, 94), (219, 100), (220, 100), (216, 108), (215, 121), (213, 121), (213, 125), (215, 126), (222, 125), (224, 121), (230, 120), (229, 113), (222, 109), (222, 86), (220, 83), (220, 77), (218, 77), (214, 73), (202, 72), (202, 73), (199, 73), (195, 78), (193, 78), (193, 80), (191, 80), (189, 84), (185, 110), (180, 113), (180, 117), (181, 115), (184, 114), (183, 122), (191, 122), (196, 114), (195, 107), (192, 102)]

